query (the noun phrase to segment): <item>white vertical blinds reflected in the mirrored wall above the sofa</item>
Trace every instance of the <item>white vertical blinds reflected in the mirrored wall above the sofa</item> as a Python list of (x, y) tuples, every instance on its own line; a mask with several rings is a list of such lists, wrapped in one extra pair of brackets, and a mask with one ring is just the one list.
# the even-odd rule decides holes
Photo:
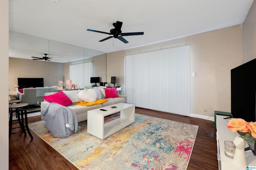
[(79, 88), (84, 88), (90, 84), (92, 76), (92, 62), (70, 65), (69, 78), (72, 84), (76, 84)]

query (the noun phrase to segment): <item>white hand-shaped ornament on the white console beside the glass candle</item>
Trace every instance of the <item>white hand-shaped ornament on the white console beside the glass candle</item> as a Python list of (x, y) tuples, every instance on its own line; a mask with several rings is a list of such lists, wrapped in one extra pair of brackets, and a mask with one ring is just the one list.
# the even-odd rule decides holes
[(246, 157), (245, 157), (245, 141), (240, 136), (236, 136), (234, 139), (234, 144), (236, 145), (236, 151), (233, 158), (233, 163), (236, 166), (246, 167)]

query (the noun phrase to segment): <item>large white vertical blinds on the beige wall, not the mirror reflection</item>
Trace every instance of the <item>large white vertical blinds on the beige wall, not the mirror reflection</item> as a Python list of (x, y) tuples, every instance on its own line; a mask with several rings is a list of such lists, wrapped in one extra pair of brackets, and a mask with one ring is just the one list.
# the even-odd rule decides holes
[(190, 45), (124, 56), (124, 94), (137, 107), (190, 115)]

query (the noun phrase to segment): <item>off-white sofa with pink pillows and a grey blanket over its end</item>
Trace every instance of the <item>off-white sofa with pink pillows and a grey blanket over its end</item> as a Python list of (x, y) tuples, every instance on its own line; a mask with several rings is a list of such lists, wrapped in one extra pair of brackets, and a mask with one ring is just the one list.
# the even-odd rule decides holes
[[(97, 98), (98, 99), (104, 99), (105, 94), (103, 89), (94, 89), (97, 91)], [(92, 106), (80, 106), (76, 105), (76, 102), (81, 101), (80, 98), (78, 98), (78, 90), (66, 90), (63, 91), (73, 102), (72, 105), (66, 106), (69, 107), (70, 109), (73, 109), (77, 115), (78, 122), (87, 120), (87, 111), (92, 110), (92, 109), (97, 109), (100, 107), (105, 107), (105, 106), (110, 106), (112, 104), (118, 104), (118, 103), (125, 103), (126, 102), (126, 96), (118, 94), (118, 98), (107, 98), (108, 101), (102, 104), (97, 104), (97, 105), (92, 105)], [(50, 93), (45, 93), (44, 96), (48, 96), (51, 94), (54, 94), (56, 92), (50, 92)], [(42, 113), (46, 106), (50, 104), (49, 102), (41, 102), (41, 119), (43, 120)]]

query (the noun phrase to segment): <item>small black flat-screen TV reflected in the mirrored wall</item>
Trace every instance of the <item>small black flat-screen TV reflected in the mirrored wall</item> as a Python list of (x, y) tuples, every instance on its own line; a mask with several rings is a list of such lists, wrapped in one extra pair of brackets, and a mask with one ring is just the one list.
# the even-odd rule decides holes
[(44, 78), (18, 78), (19, 89), (44, 87)]

